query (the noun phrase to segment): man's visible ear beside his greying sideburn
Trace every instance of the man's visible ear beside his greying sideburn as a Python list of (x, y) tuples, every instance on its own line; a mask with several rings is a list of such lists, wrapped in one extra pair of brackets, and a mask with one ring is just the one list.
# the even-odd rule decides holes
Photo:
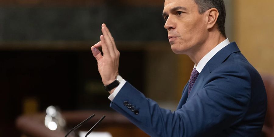
[(213, 28), (219, 16), (219, 12), (216, 8), (211, 8), (207, 12), (207, 29)]

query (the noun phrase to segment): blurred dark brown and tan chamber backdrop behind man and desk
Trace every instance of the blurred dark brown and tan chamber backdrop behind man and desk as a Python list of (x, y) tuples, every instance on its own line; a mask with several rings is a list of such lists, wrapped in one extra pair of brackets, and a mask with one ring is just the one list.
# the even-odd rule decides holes
[[(274, 1), (225, 4), (230, 42), (236, 41), (261, 74), (274, 75)], [(102, 23), (121, 52), (120, 75), (174, 111), (194, 63), (171, 51), (163, 5), (158, 0), (1, 0), (0, 136), (22, 136), (16, 118), (45, 113), (50, 105), (112, 112), (90, 51), (100, 40)]]

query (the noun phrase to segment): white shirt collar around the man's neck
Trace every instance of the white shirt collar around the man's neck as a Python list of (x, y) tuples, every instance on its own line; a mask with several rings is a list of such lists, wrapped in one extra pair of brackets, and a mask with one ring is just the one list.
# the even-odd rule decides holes
[(209, 53), (207, 53), (198, 63), (198, 65), (194, 65), (194, 68), (201, 73), (202, 69), (205, 67), (206, 63), (216, 54), (218, 53), (221, 49), (223, 49), (225, 46), (230, 44), (228, 38), (225, 39), (223, 42), (218, 44), (216, 47), (214, 47)]

